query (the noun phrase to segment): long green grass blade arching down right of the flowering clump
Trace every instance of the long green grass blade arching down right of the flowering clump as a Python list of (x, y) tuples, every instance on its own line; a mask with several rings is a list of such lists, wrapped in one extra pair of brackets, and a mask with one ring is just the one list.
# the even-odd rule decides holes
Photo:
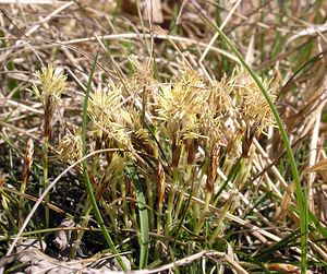
[(296, 194), (296, 202), (298, 202), (298, 207), (299, 207), (300, 230), (301, 230), (301, 274), (305, 274), (306, 267), (307, 267), (307, 229), (308, 229), (308, 224), (307, 224), (308, 211), (307, 211), (307, 205), (306, 205), (306, 203), (307, 203), (306, 202), (306, 192), (305, 192), (304, 188), (302, 190), (301, 182), (300, 182), (300, 176), (299, 176), (296, 163), (294, 159), (294, 155), (292, 152), (292, 147), (291, 147), (288, 134), (282, 126), (280, 116), (279, 116), (268, 92), (265, 90), (263, 83), (261, 82), (259, 78), (252, 70), (252, 68), (247, 64), (247, 62), (244, 60), (244, 58), (239, 52), (239, 50), (233, 45), (233, 43), (225, 35), (225, 33), (215, 23), (213, 23), (210, 20), (208, 20), (199, 10), (197, 10), (197, 12), (199, 12), (201, 16), (204, 19), (205, 22), (207, 22), (216, 32), (219, 33), (222, 40), (231, 48), (231, 50), (234, 52), (234, 55), (240, 60), (241, 64), (247, 70), (247, 72), (250, 73), (250, 75), (255, 81), (255, 83), (262, 91), (263, 95), (265, 96), (265, 98), (269, 105), (269, 108), (271, 109), (271, 112), (276, 119), (283, 144), (286, 146), (287, 155), (288, 155), (291, 170), (292, 170), (293, 180), (295, 183), (295, 194)]

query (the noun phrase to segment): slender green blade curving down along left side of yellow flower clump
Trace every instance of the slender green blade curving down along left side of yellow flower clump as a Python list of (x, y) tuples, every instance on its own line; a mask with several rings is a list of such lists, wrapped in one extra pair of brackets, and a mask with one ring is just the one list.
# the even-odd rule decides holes
[[(94, 72), (95, 72), (97, 59), (98, 59), (98, 55), (96, 56), (96, 58), (94, 60), (94, 63), (92, 65), (90, 74), (89, 74), (88, 82), (87, 82), (87, 88), (86, 88), (86, 93), (85, 93), (84, 104), (83, 104), (83, 120), (82, 120), (82, 153), (83, 153), (83, 157), (86, 156), (87, 104), (88, 104), (92, 79), (93, 79), (93, 75), (94, 75)], [(112, 241), (112, 239), (111, 239), (111, 237), (110, 237), (110, 235), (107, 230), (107, 227), (106, 227), (105, 222), (102, 219), (102, 216), (100, 214), (99, 207), (97, 205), (95, 194), (94, 194), (94, 190), (93, 190), (93, 186), (92, 186), (92, 182), (89, 180), (88, 172), (87, 172), (87, 162), (86, 162), (86, 159), (83, 160), (83, 175), (84, 175), (84, 180), (85, 180), (85, 184), (86, 184), (86, 190), (87, 190), (87, 193), (88, 193), (89, 199), (90, 199), (92, 209), (93, 209), (95, 217), (98, 222), (98, 225), (100, 226), (102, 235), (104, 235), (109, 248), (111, 249), (112, 253), (117, 255), (117, 260), (118, 260), (119, 265), (121, 266), (121, 269), (123, 271), (128, 271), (126, 265), (124, 264), (123, 260), (121, 259), (121, 257), (118, 253), (117, 248), (114, 247), (114, 243), (113, 243), (113, 241)]]

